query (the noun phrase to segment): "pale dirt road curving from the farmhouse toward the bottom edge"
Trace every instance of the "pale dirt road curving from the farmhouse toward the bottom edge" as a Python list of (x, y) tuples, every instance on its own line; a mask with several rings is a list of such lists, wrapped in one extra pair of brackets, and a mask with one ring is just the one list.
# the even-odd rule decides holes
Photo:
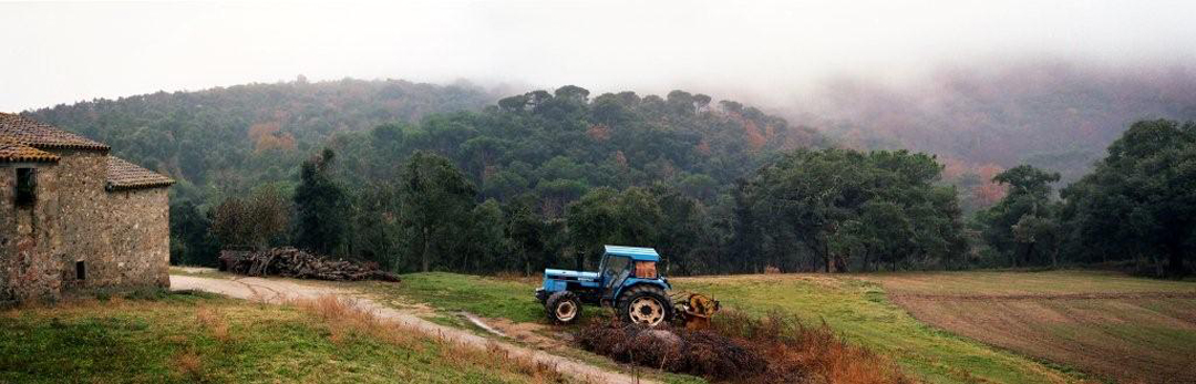
[(358, 294), (356, 292), (347, 289), (305, 285), (289, 280), (261, 278), (209, 279), (183, 275), (171, 275), (170, 288), (175, 291), (205, 291), (233, 298), (262, 300), (274, 304), (293, 299), (315, 299), (327, 294), (342, 295), (353, 299), (354, 303), (361, 309), (373, 312), (379, 318), (393, 321), (397, 324), (407, 325), (411, 329), (423, 331), (425, 334), (439, 336), (447, 341), (466, 346), (484, 349), (490, 345), (496, 345), (512, 356), (526, 356), (537, 362), (554, 366), (561, 373), (581, 378), (591, 383), (652, 383), (627, 374), (610, 372), (574, 359), (562, 358), (543, 351), (530, 349), (507, 343), (501, 340), (474, 335), (465, 330), (439, 325), (422, 319), (413, 313), (384, 306)]

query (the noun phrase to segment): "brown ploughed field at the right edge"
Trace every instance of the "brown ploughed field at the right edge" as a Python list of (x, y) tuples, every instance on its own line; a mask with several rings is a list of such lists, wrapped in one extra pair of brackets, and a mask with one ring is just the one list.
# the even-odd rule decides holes
[(1196, 382), (1196, 282), (1093, 272), (864, 276), (916, 318), (1121, 382)]

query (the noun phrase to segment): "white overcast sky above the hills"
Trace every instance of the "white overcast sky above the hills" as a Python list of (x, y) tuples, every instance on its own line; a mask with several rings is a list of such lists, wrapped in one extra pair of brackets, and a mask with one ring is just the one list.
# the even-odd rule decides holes
[(1026, 57), (1188, 65), (1196, 1), (0, 4), (0, 111), (346, 77), (793, 95)]

